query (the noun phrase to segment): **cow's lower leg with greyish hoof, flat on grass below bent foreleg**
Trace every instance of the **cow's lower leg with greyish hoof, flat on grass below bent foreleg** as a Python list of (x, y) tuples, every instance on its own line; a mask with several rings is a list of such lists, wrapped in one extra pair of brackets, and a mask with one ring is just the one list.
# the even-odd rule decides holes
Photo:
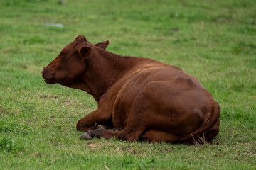
[(105, 139), (113, 138), (115, 137), (119, 131), (114, 130), (106, 130), (103, 128), (96, 129), (96, 130), (89, 130), (85, 132), (84, 134), (80, 135), (80, 137), (84, 140), (90, 140), (92, 138), (100, 138), (104, 137)]

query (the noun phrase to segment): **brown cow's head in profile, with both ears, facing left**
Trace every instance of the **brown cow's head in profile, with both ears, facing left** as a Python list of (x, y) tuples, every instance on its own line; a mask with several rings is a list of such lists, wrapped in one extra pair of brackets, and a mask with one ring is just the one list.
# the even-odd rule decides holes
[(60, 54), (42, 70), (42, 76), (47, 84), (62, 84), (71, 86), (81, 82), (86, 70), (86, 58), (97, 48), (106, 49), (108, 41), (92, 45), (83, 35), (66, 45)]

